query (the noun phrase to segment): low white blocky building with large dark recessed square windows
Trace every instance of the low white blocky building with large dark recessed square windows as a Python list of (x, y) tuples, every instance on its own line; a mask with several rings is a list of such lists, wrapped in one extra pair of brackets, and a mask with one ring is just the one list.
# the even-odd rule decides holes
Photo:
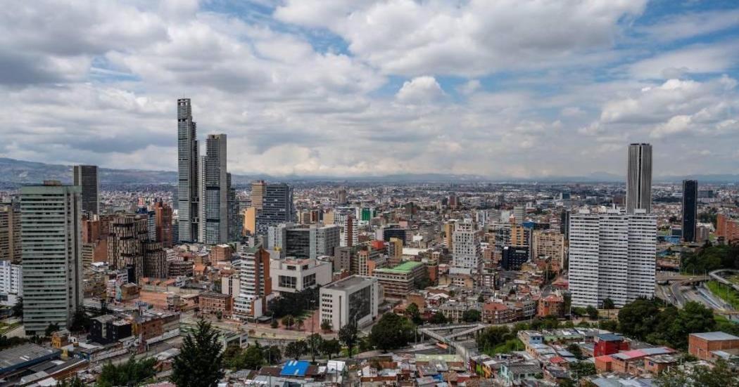
[(296, 293), (331, 282), (331, 262), (317, 259), (272, 259), (272, 290)]

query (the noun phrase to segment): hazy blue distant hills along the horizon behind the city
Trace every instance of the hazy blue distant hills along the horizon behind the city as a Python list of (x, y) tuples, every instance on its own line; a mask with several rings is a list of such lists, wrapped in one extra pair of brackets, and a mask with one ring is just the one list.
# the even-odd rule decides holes
[[(101, 184), (175, 184), (177, 172), (154, 170), (117, 170), (101, 168)], [(271, 175), (233, 175), (236, 185), (248, 184), (250, 181), (263, 179), (268, 181), (364, 181), (387, 183), (471, 183), (471, 182), (500, 182), (511, 183), (534, 182), (562, 183), (562, 182), (624, 182), (624, 176), (608, 172), (593, 172), (585, 176), (542, 176), (538, 178), (486, 178), (480, 175), (454, 175), (445, 173), (402, 173), (395, 175), (378, 176), (271, 176)], [(675, 182), (685, 178), (692, 178), (706, 183), (735, 183), (739, 182), (739, 175), (690, 175), (690, 176), (657, 176), (655, 182)], [(40, 183), (44, 180), (59, 180), (64, 183), (72, 182), (72, 166), (61, 164), (44, 164), (35, 161), (0, 158), (0, 183), (3, 185), (18, 186), (22, 184)]]

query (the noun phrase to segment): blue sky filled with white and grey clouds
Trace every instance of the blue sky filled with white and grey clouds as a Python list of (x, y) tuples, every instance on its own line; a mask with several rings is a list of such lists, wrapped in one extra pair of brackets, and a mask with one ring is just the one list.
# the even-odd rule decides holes
[(739, 3), (18, 1), (0, 156), (174, 170), (176, 100), (231, 172), (739, 170)]

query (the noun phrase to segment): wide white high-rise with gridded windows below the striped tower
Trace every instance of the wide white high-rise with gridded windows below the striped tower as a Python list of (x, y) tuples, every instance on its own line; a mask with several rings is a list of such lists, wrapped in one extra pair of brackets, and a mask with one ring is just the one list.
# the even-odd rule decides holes
[(657, 223), (644, 210), (628, 215), (581, 210), (570, 216), (569, 282), (573, 306), (616, 306), (654, 296)]

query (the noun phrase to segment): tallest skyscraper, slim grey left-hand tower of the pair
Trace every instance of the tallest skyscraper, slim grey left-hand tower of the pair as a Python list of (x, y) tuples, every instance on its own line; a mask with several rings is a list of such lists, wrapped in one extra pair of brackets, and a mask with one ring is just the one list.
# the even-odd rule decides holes
[(189, 98), (177, 100), (177, 218), (179, 240), (198, 237), (199, 180), (197, 125)]

